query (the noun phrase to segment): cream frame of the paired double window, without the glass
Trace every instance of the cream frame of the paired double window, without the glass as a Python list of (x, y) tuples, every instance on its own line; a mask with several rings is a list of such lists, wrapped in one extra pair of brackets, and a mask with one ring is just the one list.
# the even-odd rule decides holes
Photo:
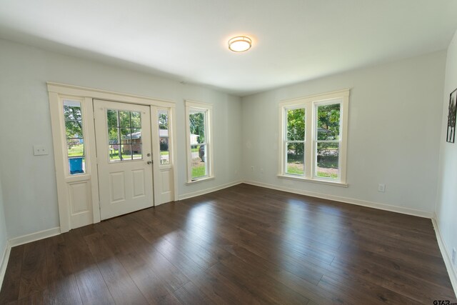
[[(329, 179), (316, 176), (316, 149), (317, 149), (317, 107), (327, 104), (340, 103), (340, 142), (339, 151), (339, 179)], [(281, 101), (279, 103), (279, 136), (278, 136), (278, 177), (301, 181), (311, 181), (321, 184), (330, 184), (347, 187), (346, 181), (346, 153), (348, 139), (348, 105), (349, 89), (332, 91), (325, 94), (316, 94), (298, 99)], [(287, 174), (287, 115), (286, 110), (305, 109), (305, 157), (303, 175)]]

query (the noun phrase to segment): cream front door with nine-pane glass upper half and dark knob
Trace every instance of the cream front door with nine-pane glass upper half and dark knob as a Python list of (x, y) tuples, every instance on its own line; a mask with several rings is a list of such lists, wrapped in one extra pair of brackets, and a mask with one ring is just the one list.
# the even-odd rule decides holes
[(94, 100), (101, 219), (154, 206), (150, 113)]

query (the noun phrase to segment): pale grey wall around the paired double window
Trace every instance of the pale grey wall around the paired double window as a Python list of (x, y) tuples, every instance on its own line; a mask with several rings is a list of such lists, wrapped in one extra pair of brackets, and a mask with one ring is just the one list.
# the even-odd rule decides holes
[[(445, 59), (440, 51), (244, 97), (244, 178), (431, 216), (442, 142)], [(278, 102), (345, 88), (351, 89), (348, 188), (278, 178)], [(378, 183), (386, 184), (385, 193), (378, 192)]]

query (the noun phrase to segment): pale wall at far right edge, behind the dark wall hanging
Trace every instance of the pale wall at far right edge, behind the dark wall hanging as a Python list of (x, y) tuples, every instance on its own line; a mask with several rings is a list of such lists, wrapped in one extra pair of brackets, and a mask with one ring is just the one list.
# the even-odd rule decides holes
[[(449, 94), (457, 88), (457, 32), (448, 48), (446, 59), (446, 79), (444, 81), (443, 113), (440, 136), (440, 162), (438, 179), (438, 196), (436, 201), (436, 221), (446, 245), (448, 256), (452, 249), (457, 249), (457, 141), (446, 142), (448, 126)], [(457, 266), (453, 265), (454, 279)], [(457, 284), (457, 283), (456, 283)], [(455, 286), (457, 291), (457, 286)]]

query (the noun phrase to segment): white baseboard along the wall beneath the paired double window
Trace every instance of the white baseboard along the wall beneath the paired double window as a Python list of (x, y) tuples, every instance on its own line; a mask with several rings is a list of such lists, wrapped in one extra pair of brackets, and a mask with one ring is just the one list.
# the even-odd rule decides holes
[(346, 197), (341, 197), (341, 196), (334, 196), (334, 195), (329, 195), (329, 194), (321, 194), (321, 193), (316, 193), (313, 191), (303, 191), (301, 189), (291, 189), (291, 188), (288, 188), (285, 186), (264, 184), (262, 182), (257, 182), (257, 181), (243, 181), (243, 183), (251, 184), (251, 185), (255, 185), (255, 186), (266, 187), (267, 189), (276, 189), (278, 191), (287, 191), (287, 192), (293, 193), (293, 194), (300, 194), (300, 195), (311, 196), (311, 197), (316, 197), (316, 198), (321, 198), (321, 199), (328, 199), (328, 200), (343, 202), (345, 204), (356, 204), (357, 206), (366, 206), (366, 207), (373, 208), (373, 209), (392, 211), (392, 212), (396, 212), (396, 213), (407, 214), (407, 215), (412, 215), (412, 216), (419, 216), (419, 217), (424, 217), (424, 218), (429, 218), (429, 219), (433, 218), (433, 212), (428, 212), (428, 211), (402, 208), (400, 206), (390, 206), (388, 204), (380, 204), (377, 202), (363, 201), (363, 200), (346, 198)]

